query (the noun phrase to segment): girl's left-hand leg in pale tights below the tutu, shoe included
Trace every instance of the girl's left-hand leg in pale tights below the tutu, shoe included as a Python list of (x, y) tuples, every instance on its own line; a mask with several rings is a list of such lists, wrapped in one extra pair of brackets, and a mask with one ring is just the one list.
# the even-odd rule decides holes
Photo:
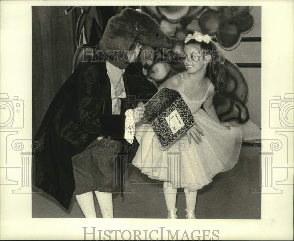
[(178, 218), (176, 209), (177, 189), (172, 188), (170, 182), (163, 182), (164, 198), (168, 210), (168, 218)]

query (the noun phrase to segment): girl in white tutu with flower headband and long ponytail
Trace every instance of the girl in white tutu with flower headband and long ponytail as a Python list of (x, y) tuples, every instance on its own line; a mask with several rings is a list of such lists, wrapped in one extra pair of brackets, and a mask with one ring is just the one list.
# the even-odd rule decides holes
[(213, 96), (225, 89), (226, 80), (224, 59), (211, 37), (189, 34), (184, 50), (186, 71), (170, 77), (161, 87), (181, 93), (195, 125), (165, 149), (150, 125), (143, 124), (135, 132), (140, 147), (133, 164), (150, 178), (164, 181), (168, 218), (177, 218), (178, 187), (185, 191), (186, 218), (195, 218), (197, 190), (217, 173), (234, 167), (242, 143), (241, 129), (221, 123), (213, 106)]

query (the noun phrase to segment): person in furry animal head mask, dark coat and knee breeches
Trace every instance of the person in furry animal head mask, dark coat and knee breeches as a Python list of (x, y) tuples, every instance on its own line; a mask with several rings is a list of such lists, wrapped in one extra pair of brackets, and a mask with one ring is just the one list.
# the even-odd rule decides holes
[(141, 11), (126, 8), (113, 16), (99, 48), (115, 50), (117, 59), (80, 64), (57, 92), (36, 134), (44, 148), (35, 155), (34, 185), (67, 209), (75, 195), (85, 217), (96, 217), (92, 191), (103, 217), (113, 217), (116, 156), (128, 142), (137, 143), (133, 127), (144, 112), (136, 99), (157, 92), (135, 61), (138, 52), (133, 50), (141, 44), (173, 48), (176, 39)]

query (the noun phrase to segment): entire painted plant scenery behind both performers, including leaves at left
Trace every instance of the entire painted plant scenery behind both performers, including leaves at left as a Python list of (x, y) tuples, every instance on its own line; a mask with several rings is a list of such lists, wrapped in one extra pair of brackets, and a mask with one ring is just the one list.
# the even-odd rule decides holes
[[(77, 45), (95, 46), (101, 39), (108, 19), (120, 12), (123, 6), (78, 6), (82, 14), (78, 19), (76, 39)], [(236, 48), (242, 34), (254, 26), (250, 13), (251, 6), (131, 6), (150, 14), (169, 36), (178, 39), (173, 49), (178, 58), (183, 55), (184, 39), (194, 31), (209, 34), (218, 45), (226, 50)], [(68, 13), (74, 7), (70, 6)], [(147, 61), (143, 62), (144, 74), (158, 87), (171, 75), (185, 70), (183, 62), (171, 61), (165, 51), (153, 51), (152, 46), (143, 46), (147, 50)], [(151, 52), (151, 54), (149, 54)], [(160, 56), (156, 56), (158, 54)], [(153, 59), (167, 58), (166, 62)], [(144, 56), (142, 56), (142, 59)], [(81, 59), (78, 48), (75, 54), (75, 66)], [(145, 58), (146, 59), (146, 58)], [(246, 107), (248, 86), (239, 68), (229, 60), (225, 61), (228, 85), (225, 91), (217, 93), (214, 105), (221, 121), (237, 120), (245, 123), (249, 119)]]

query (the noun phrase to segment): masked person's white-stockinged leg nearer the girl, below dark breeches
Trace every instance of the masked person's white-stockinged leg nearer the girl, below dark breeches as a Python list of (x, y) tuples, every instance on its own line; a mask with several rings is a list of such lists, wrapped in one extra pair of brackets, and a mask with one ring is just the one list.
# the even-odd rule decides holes
[(103, 218), (113, 218), (112, 194), (106, 192), (94, 191), (97, 197), (99, 207)]

